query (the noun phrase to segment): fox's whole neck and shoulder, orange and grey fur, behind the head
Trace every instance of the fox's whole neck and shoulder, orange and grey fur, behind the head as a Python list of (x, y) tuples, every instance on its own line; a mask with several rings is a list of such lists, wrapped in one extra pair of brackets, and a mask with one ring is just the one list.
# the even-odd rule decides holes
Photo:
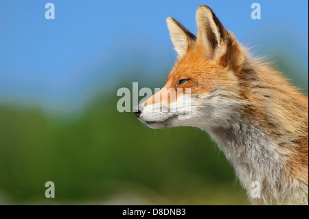
[(249, 197), (252, 183), (260, 183), (253, 204), (308, 205), (308, 98), (266, 65), (251, 64), (242, 78), (249, 105), (230, 126), (201, 128), (231, 161)]

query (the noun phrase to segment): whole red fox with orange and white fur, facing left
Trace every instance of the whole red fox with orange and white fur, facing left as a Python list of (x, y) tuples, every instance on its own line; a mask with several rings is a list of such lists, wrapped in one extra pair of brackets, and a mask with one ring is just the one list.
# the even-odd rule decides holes
[[(207, 131), (253, 205), (308, 205), (308, 97), (253, 58), (206, 5), (196, 11), (196, 21), (197, 37), (167, 19), (178, 60), (165, 87), (136, 106), (135, 115), (150, 128)], [(187, 95), (190, 106), (178, 106)], [(190, 115), (179, 119), (189, 107)], [(260, 183), (260, 198), (251, 196), (253, 182)]]

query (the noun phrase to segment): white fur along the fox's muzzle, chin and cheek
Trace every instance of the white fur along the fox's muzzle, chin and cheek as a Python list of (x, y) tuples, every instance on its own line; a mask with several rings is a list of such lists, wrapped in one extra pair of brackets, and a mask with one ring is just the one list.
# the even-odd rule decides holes
[(195, 126), (204, 130), (215, 126), (227, 128), (233, 125), (231, 121), (236, 119), (239, 116), (238, 112), (241, 111), (239, 101), (226, 97), (228, 94), (233, 97), (227, 92), (229, 91), (217, 90), (204, 96), (182, 97), (170, 104), (170, 108), (150, 104), (144, 108), (139, 119), (150, 128), (174, 126)]

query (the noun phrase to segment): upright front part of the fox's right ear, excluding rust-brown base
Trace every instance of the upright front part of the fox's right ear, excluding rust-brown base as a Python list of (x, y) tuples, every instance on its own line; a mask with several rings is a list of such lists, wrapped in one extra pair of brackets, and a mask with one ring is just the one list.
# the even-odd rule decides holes
[(216, 52), (222, 49), (227, 31), (216, 17), (216, 14), (206, 5), (198, 7), (196, 23), (198, 25), (198, 46), (205, 49), (207, 57), (214, 58)]

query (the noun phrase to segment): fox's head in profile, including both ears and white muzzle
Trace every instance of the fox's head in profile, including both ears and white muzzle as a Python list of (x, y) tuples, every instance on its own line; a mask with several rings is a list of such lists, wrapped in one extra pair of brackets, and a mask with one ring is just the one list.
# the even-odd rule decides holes
[(150, 128), (229, 126), (242, 102), (244, 49), (206, 5), (196, 11), (198, 35), (169, 17), (178, 60), (163, 89), (135, 108)]

